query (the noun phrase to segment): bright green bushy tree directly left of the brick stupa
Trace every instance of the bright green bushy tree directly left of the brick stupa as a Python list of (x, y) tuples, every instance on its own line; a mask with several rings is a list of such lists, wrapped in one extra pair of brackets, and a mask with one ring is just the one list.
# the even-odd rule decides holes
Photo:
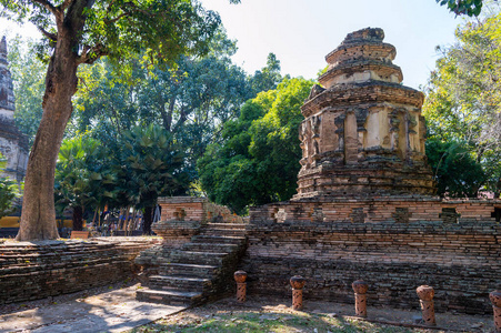
[(313, 81), (284, 79), (242, 107), (223, 129), (224, 142), (212, 144), (198, 162), (209, 199), (242, 213), (248, 205), (288, 200), (300, 169), (300, 107)]

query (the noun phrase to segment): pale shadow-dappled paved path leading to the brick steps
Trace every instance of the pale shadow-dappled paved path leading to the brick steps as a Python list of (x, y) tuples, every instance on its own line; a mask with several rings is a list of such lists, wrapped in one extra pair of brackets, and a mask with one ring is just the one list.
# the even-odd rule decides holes
[[(124, 332), (186, 310), (136, 301), (139, 284), (86, 299), (0, 315), (3, 332)], [(56, 302), (54, 302), (56, 303)]]

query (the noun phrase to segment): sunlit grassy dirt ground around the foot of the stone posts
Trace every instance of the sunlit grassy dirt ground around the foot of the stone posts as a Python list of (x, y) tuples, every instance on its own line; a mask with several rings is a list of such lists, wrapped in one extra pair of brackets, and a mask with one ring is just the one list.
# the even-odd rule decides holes
[(437, 315), (439, 330), (419, 327), (415, 310), (369, 306), (369, 321), (353, 317), (353, 304), (304, 302), (303, 311), (294, 311), (291, 300), (271, 296), (250, 296), (241, 304), (224, 299), (201, 307), (164, 317), (132, 332), (492, 332), (490, 315)]

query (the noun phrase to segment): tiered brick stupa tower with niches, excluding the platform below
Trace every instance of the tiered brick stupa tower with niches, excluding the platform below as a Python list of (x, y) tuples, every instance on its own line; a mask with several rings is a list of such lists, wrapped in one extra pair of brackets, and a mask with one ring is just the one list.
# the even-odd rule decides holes
[(303, 152), (295, 200), (434, 194), (425, 162), (423, 93), (400, 84), (382, 29), (348, 34), (301, 108)]

